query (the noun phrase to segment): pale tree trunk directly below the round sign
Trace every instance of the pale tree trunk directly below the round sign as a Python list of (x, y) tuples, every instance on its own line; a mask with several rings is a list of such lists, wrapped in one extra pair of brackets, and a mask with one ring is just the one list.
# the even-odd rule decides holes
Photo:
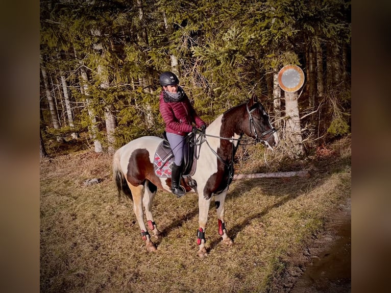
[(288, 145), (291, 145), (291, 151), (294, 156), (302, 156), (304, 154), (303, 137), (300, 125), (300, 114), (297, 92), (285, 91), (285, 140)]

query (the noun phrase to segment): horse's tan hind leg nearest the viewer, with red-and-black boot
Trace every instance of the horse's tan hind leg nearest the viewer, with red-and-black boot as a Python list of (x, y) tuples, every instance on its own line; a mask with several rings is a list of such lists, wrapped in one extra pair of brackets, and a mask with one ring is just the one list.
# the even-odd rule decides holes
[(143, 195), (143, 185), (133, 186), (129, 184), (129, 187), (133, 195), (133, 211), (137, 218), (138, 226), (140, 226), (141, 237), (145, 241), (146, 250), (148, 252), (155, 251), (155, 244), (151, 241), (151, 235), (146, 230), (144, 224), (144, 213), (142, 210), (142, 195)]

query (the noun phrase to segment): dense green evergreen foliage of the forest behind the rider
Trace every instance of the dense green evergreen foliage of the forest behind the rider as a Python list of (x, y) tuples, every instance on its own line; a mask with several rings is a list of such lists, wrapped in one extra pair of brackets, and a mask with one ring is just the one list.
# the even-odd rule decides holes
[[(158, 77), (172, 70), (172, 55), (179, 61), (181, 86), (207, 123), (253, 89), (270, 109), (268, 79), (275, 68), (305, 66), (306, 48), (317, 43), (350, 46), (350, 6), (345, 0), (142, 0), (141, 6), (136, 0), (48, 0), (40, 3), (40, 50), (53, 85), (60, 69), (66, 73), (80, 129), (92, 123), (80, 77), (81, 66), (86, 70), (89, 107), (101, 138), (106, 106), (112, 106), (119, 147), (142, 135), (161, 136)], [(145, 92), (142, 77), (152, 92)], [(101, 87), (105, 80), (108, 88)], [(307, 108), (305, 100), (300, 103)], [(324, 119), (332, 135), (349, 132), (350, 100), (343, 103), (338, 119)], [(334, 106), (327, 100), (328, 109)], [(41, 108), (47, 117), (44, 103)]]

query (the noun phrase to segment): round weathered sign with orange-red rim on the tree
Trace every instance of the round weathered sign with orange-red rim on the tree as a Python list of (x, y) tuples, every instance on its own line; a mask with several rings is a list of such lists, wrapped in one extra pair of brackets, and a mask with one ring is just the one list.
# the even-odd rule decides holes
[(294, 92), (304, 84), (304, 72), (297, 65), (286, 65), (278, 72), (278, 84), (284, 91)]

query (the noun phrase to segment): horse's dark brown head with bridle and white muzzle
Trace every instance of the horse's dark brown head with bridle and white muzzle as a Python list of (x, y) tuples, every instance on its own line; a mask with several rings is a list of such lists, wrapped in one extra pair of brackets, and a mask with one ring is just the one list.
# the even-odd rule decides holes
[(262, 142), (267, 148), (273, 150), (279, 143), (277, 130), (271, 124), (268, 114), (262, 104), (258, 102), (255, 93), (246, 104), (246, 109), (249, 123), (243, 131), (257, 142)]

